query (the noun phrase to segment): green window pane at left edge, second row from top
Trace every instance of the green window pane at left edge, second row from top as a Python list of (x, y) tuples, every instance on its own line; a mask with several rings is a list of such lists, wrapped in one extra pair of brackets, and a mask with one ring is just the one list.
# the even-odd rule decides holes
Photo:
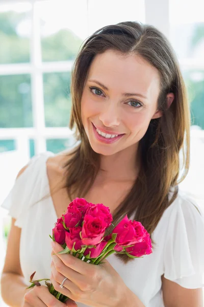
[(32, 127), (30, 75), (0, 76), (0, 127)]

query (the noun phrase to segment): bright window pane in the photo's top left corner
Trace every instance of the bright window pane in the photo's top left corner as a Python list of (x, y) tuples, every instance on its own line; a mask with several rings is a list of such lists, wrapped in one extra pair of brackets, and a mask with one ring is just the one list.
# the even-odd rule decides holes
[(31, 4), (0, 4), (0, 64), (30, 62)]

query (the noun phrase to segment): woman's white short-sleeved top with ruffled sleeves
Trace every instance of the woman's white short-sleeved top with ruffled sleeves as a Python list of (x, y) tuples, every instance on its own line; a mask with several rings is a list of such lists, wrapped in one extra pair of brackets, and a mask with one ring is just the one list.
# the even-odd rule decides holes
[[(35, 279), (49, 278), (51, 273), (49, 234), (57, 221), (56, 211), (50, 196), (32, 205), (49, 192), (46, 160), (50, 156), (55, 154), (46, 151), (34, 156), (2, 204), (16, 218), (15, 226), (22, 228), (20, 265), (28, 285), (34, 271)], [(194, 204), (179, 191), (152, 234), (157, 244), (152, 254), (135, 258), (126, 265), (114, 254), (107, 258), (145, 307), (164, 307), (163, 274), (184, 288), (204, 287), (204, 218)], [(87, 305), (78, 303), (78, 306)]]

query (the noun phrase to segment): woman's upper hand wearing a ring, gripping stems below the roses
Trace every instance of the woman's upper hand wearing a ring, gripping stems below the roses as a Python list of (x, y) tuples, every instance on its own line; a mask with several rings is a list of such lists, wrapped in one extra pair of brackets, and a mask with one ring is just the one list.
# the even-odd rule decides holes
[[(71, 254), (58, 254), (63, 250), (56, 243), (52, 251), (52, 274), (50, 281), (55, 290), (76, 302), (92, 307), (119, 307), (125, 297), (127, 289), (120, 275), (104, 259), (103, 264), (93, 265)], [(67, 277), (63, 286), (60, 284)]]

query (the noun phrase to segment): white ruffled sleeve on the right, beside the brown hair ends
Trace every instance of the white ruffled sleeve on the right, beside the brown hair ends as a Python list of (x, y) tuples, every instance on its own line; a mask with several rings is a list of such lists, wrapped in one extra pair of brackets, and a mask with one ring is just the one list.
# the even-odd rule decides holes
[(164, 246), (164, 277), (188, 289), (204, 287), (204, 217), (188, 196), (172, 204)]

